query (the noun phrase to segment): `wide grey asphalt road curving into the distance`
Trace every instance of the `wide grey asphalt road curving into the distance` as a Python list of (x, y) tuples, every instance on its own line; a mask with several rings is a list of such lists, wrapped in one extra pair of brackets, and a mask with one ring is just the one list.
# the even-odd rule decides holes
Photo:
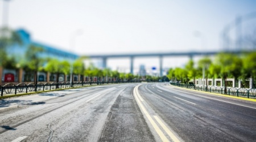
[(0, 141), (255, 141), (256, 102), (167, 83), (0, 100)]

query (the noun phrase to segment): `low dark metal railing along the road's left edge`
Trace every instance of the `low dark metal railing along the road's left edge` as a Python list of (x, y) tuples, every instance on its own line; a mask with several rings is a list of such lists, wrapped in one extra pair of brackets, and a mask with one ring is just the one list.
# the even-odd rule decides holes
[(5, 94), (18, 94), (18, 93), (28, 93), (32, 91), (45, 91), (45, 90), (56, 90), (65, 89), (71, 87), (82, 87), (91, 85), (102, 85), (102, 84), (112, 84), (112, 83), (133, 83), (138, 81), (109, 81), (109, 82), (52, 82), (52, 83), (19, 83), (14, 85), (13, 83), (7, 83), (6, 85), (0, 85), (1, 97)]

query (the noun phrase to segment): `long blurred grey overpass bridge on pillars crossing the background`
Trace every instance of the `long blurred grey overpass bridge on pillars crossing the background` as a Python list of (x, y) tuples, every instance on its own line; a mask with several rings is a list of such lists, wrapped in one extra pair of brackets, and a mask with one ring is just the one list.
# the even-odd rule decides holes
[(160, 76), (162, 76), (163, 72), (163, 57), (177, 57), (177, 56), (187, 56), (190, 59), (193, 59), (194, 56), (210, 56), (210, 55), (216, 55), (220, 52), (224, 53), (241, 53), (241, 51), (191, 51), (191, 52), (162, 52), (162, 53), (121, 53), (121, 54), (112, 54), (112, 55), (88, 55), (88, 56), (82, 56), (89, 59), (101, 59), (103, 61), (103, 68), (106, 68), (107, 66), (107, 60), (108, 59), (114, 59), (114, 58), (129, 58), (130, 59), (130, 73), (133, 73), (133, 63), (135, 57), (159, 57), (159, 66), (160, 66)]

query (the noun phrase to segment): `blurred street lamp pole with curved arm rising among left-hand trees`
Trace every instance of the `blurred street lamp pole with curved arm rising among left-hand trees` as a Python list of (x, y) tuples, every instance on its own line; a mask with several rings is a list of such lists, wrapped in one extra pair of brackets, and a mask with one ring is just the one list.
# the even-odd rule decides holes
[[(81, 29), (72, 32), (72, 34), (70, 36), (70, 40), (69, 40), (69, 46), (70, 46), (69, 48), (70, 48), (71, 52), (74, 51), (76, 37), (82, 35), (82, 33), (83, 32)], [(73, 82), (73, 77), (72, 77), (73, 76), (73, 60), (75, 60), (75, 57), (74, 57), (74, 59), (71, 59), (71, 65), (70, 65), (70, 86), (71, 87), (72, 87), (72, 82)]]

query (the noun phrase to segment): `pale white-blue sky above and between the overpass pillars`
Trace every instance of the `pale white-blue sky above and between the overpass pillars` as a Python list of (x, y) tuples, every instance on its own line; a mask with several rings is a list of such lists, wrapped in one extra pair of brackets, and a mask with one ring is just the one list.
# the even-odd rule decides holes
[[(3, 0), (1, 8), (2, 4)], [(237, 15), (256, 11), (255, 7), (253, 0), (11, 0), (8, 23), (26, 29), (35, 41), (64, 50), (71, 50), (71, 35), (81, 29), (83, 34), (76, 36), (72, 47), (79, 55), (220, 50), (223, 28)], [(184, 65), (187, 59), (165, 58), (164, 67)], [(134, 66), (158, 67), (158, 62), (135, 59)], [(130, 63), (109, 60), (108, 65), (129, 68)]]

